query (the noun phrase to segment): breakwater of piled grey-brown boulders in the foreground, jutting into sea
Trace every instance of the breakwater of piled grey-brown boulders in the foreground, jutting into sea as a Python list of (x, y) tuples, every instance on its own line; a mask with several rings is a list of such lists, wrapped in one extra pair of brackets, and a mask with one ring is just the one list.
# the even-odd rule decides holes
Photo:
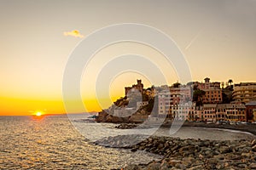
[[(129, 141), (136, 140), (136, 144), (129, 144)], [(95, 144), (131, 151), (145, 150), (163, 156), (162, 160), (151, 161), (146, 165), (126, 165), (122, 168), (124, 170), (256, 169), (256, 139), (220, 141), (156, 136), (145, 138), (134, 134), (108, 137)]]

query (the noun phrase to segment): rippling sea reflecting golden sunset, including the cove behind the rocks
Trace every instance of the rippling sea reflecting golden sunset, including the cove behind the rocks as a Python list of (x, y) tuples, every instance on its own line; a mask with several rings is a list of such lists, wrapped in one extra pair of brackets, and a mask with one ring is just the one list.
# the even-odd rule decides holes
[[(93, 144), (97, 139), (143, 130), (124, 131), (114, 128), (115, 124), (87, 120), (79, 115), (0, 116), (0, 169), (119, 169), (161, 159), (146, 151)], [(182, 139), (255, 139), (250, 133), (192, 127), (172, 134), (166, 128), (153, 128), (152, 133)]]

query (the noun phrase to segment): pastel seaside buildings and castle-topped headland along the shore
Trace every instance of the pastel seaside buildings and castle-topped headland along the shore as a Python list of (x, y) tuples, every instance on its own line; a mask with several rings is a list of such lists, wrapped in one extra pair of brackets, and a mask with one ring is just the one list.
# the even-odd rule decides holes
[(207, 123), (255, 123), (256, 82), (233, 83), (179, 82), (172, 86), (144, 88), (142, 80), (125, 87), (125, 96), (107, 110), (99, 112), (96, 122), (166, 121)]

